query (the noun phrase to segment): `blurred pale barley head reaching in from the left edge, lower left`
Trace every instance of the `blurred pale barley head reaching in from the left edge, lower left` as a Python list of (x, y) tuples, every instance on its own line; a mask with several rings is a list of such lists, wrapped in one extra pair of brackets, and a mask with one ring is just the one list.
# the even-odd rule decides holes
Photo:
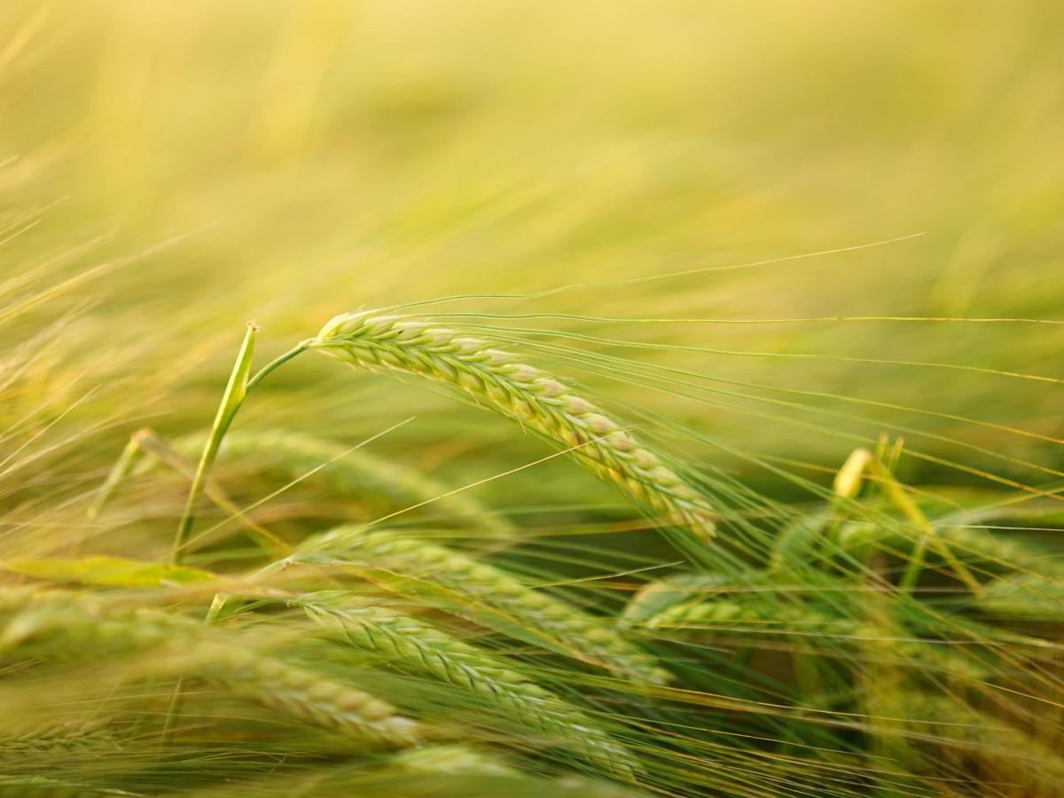
[(386, 746), (415, 745), (422, 734), (387, 701), (190, 619), (78, 593), (0, 596), (4, 659), (84, 662), (150, 652), (156, 675), (201, 679), (301, 722)]

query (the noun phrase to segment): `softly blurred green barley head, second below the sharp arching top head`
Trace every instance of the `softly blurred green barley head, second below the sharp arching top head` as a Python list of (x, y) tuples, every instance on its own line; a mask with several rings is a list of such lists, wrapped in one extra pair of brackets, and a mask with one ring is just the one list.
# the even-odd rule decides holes
[(294, 561), (301, 556), (307, 562), (325, 556), (362, 572), (382, 569), (384, 586), (410, 592), (496, 631), (638, 681), (663, 684), (670, 679), (653, 656), (609, 620), (529, 587), (501, 568), (398, 530), (338, 527), (310, 538)]

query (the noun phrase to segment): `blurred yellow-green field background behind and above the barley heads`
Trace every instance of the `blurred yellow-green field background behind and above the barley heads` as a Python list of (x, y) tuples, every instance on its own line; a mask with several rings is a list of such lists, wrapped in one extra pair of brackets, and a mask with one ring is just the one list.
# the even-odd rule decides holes
[[(755, 461), (827, 484), (882, 431), (927, 455), (909, 481), (1064, 468), (1059, 323), (844, 318), (1061, 317), (1059, 2), (7, 0), (0, 31), (22, 487), (77, 472), (76, 503), (137, 427), (206, 426), (249, 319), (265, 362), (344, 311), (678, 271), (423, 310), (702, 319), (466, 320), (697, 372), (692, 396), (551, 366), (787, 500), (805, 494)], [(411, 415), (375, 448), (455, 483), (546, 452), (310, 356), (239, 423), (354, 443)], [(563, 461), (478, 488), (587, 492), (616, 501)]]

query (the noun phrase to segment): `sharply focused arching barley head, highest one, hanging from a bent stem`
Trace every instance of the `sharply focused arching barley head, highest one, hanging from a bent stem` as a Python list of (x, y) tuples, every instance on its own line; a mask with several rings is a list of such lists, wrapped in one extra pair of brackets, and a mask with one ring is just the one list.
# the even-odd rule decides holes
[(668, 525), (697, 541), (713, 534), (705, 498), (649, 446), (550, 375), (489, 340), (398, 316), (344, 314), (309, 342), (317, 351), (373, 371), (425, 377), (571, 450)]

